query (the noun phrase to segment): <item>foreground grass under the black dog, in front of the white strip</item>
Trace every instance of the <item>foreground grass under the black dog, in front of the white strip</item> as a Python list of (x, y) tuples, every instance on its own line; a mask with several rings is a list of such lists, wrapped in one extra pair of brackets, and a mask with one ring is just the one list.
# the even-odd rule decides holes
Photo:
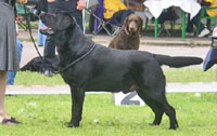
[[(169, 93), (177, 111), (179, 128), (168, 130), (164, 114), (159, 126), (150, 126), (153, 112), (148, 106), (115, 106), (110, 94), (88, 94), (78, 128), (68, 128), (69, 95), (7, 96), (8, 112), (23, 123), (0, 125), (0, 136), (215, 136), (217, 134), (217, 94)], [(98, 120), (95, 123), (94, 120)]]

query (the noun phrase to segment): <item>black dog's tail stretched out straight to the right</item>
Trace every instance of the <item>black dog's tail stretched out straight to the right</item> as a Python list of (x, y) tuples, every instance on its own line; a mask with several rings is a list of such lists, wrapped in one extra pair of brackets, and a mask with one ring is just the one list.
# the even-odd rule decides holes
[(203, 63), (203, 59), (200, 57), (190, 57), (190, 56), (167, 56), (154, 54), (155, 59), (159, 63), (159, 65), (167, 65), (169, 67), (186, 67), (190, 65), (199, 65)]

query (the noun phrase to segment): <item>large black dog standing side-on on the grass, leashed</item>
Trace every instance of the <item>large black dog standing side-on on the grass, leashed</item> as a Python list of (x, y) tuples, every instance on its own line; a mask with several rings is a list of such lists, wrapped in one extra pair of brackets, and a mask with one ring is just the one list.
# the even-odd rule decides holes
[(161, 66), (184, 67), (201, 64), (203, 59), (108, 49), (87, 38), (69, 13), (42, 13), (40, 18), (54, 31), (59, 70), (71, 86), (72, 119), (68, 126), (79, 126), (85, 92), (127, 93), (136, 90), (155, 114), (152, 125), (159, 125), (166, 113), (169, 128), (178, 127), (175, 108), (165, 96), (166, 81)]

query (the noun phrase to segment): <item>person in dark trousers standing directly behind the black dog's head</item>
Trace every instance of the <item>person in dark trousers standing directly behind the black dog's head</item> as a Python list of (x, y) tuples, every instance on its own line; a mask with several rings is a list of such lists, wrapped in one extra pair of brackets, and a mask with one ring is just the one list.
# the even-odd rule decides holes
[[(62, 11), (71, 12), (80, 28), (82, 29), (82, 10), (85, 9), (85, 0), (48, 0), (48, 13), (58, 13)], [(44, 76), (51, 77), (55, 69), (55, 44), (54, 36), (48, 36), (43, 50)]]

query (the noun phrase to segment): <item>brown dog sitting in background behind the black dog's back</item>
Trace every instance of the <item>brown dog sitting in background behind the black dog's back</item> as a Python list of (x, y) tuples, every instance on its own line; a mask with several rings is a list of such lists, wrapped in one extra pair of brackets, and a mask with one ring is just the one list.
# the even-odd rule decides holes
[(140, 30), (143, 21), (137, 14), (130, 14), (126, 17), (124, 25), (118, 33), (111, 41), (108, 47), (119, 50), (138, 50), (140, 44)]

